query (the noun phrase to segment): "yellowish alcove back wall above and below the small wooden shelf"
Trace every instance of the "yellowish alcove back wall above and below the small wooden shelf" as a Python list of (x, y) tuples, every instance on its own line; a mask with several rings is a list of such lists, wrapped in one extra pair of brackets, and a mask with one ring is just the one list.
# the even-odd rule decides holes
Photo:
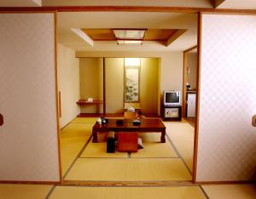
[[(103, 59), (80, 58), (80, 98), (103, 100)], [(82, 113), (102, 112), (102, 105), (82, 105)]]

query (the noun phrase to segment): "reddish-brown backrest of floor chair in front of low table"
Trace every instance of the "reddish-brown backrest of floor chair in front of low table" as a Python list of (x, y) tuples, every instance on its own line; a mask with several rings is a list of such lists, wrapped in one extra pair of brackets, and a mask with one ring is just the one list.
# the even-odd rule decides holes
[(118, 140), (117, 151), (137, 152), (137, 132), (119, 132), (116, 134)]

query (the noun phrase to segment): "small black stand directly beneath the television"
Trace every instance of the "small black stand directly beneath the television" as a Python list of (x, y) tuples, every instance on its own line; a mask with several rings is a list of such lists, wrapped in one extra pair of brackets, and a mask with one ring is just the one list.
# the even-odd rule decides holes
[(181, 121), (182, 106), (181, 105), (163, 105), (162, 118), (164, 121)]

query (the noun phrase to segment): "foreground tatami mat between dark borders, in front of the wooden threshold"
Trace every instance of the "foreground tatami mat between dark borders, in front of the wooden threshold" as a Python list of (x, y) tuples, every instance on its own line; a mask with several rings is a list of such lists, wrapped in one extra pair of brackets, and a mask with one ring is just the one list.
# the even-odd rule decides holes
[(55, 188), (51, 199), (69, 199), (82, 198), (86, 199), (167, 199), (167, 198), (183, 198), (183, 199), (201, 199), (205, 198), (198, 186), (183, 187), (64, 187)]

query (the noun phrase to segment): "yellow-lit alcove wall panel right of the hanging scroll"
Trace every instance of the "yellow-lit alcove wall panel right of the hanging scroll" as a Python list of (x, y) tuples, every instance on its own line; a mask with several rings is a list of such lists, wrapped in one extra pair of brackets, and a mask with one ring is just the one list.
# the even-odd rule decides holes
[(143, 113), (159, 113), (159, 72), (158, 58), (141, 59), (140, 104)]

